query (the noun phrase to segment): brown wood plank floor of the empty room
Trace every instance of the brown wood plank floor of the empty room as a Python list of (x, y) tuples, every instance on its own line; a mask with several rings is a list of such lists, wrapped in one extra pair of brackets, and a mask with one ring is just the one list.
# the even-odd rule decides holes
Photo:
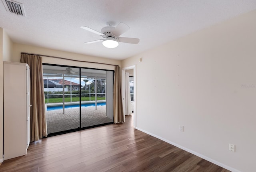
[(28, 154), (5, 160), (0, 172), (229, 172), (154, 138), (126, 122), (33, 142)]

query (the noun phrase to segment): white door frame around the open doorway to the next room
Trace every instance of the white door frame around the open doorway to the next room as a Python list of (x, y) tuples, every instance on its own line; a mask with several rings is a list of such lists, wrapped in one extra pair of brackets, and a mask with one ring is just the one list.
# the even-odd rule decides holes
[[(124, 67), (122, 68), (122, 103), (123, 103), (123, 107), (125, 106), (124, 103), (124, 97), (125, 97), (125, 71), (126, 70), (130, 70), (133, 69), (133, 87), (134, 87), (134, 92), (133, 92), (133, 99), (134, 99), (134, 103), (133, 103), (133, 126), (136, 129), (136, 65), (132, 65), (132, 66), (128, 66), (128, 67)], [(123, 111), (125, 110), (125, 107), (123, 108)], [(124, 113), (125, 114), (125, 113)]]

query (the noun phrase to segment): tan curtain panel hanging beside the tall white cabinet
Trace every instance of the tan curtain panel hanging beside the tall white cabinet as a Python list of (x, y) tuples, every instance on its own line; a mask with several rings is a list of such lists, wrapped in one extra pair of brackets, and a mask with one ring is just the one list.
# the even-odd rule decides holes
[(47, 137), (42, 57), (22, 53), (20, 62), (30, 67), (30, 141), (33, 142)]

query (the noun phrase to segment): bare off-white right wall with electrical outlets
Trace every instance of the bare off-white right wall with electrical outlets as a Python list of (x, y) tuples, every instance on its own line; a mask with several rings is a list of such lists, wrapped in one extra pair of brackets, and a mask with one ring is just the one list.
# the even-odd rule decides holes
[(136, 64), (137, 128), (229, 170), (254, 172), (255, 18), (256, 10), (122, 61)]

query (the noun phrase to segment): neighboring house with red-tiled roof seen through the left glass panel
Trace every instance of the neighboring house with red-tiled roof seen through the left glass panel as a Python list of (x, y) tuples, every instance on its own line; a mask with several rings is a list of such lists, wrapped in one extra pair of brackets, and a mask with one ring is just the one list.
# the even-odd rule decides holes
[[(48, 84), (48, 87), (47, 87)], [(70, 91), (70, 87), (72, 87), (72, 91), (79, 91), (80, 85), (78, 83), (70, 82), (64, 80), (65, 91)], [(44, 79), (44, 91), (62, 91), (63, 80), (62, 79)], [(48, 89), (47, 89), (48, 88)]]

